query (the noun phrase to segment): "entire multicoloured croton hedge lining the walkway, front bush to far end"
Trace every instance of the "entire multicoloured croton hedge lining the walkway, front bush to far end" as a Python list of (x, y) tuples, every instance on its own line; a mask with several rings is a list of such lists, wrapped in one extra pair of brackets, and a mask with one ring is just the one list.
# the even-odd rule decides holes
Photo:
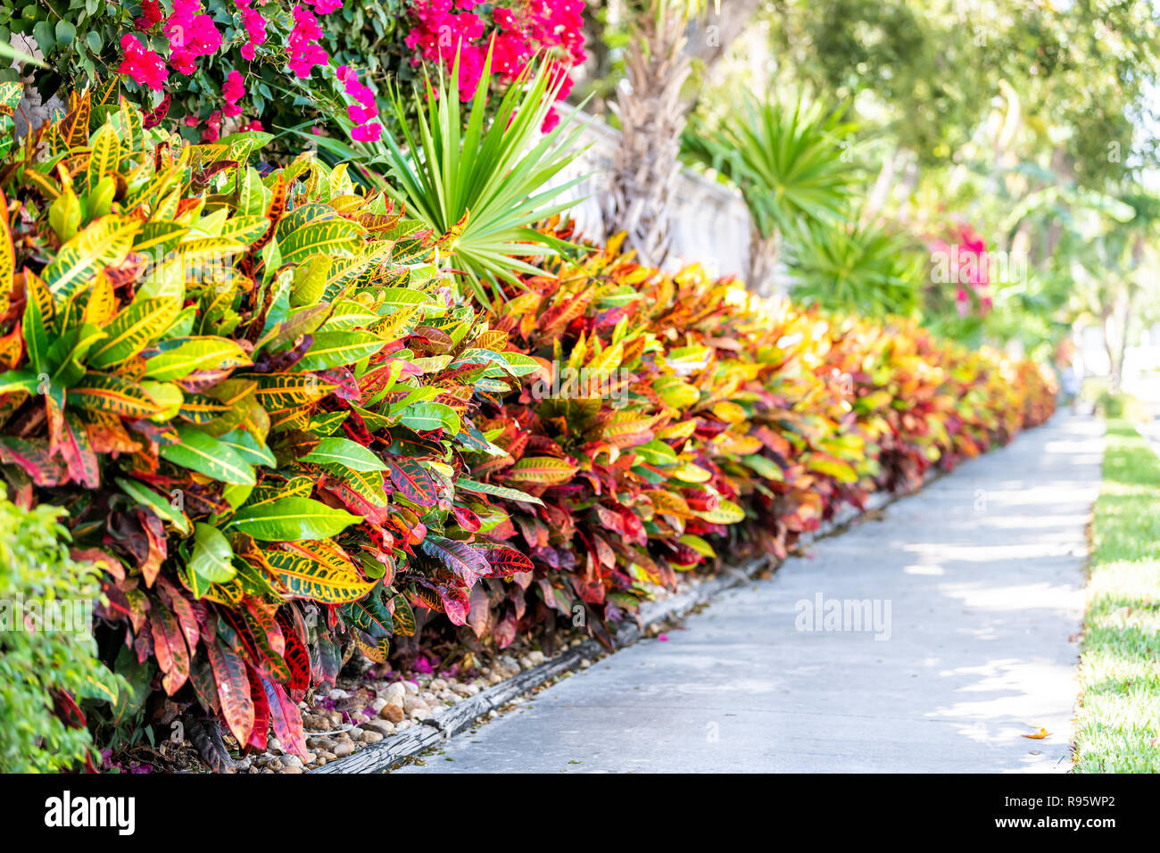
[(262, 175), (263, 137), (191, 146), (114, 91), (0, 165), (0, 472), (103, 572), (106, 737), (181, 715), (215, 769), (219, 724), (302, 752), (309, 691), (433, 614), (607, 639), (723, 545), (784, 555), (1051, 411), (1031, 366), (616, 246), (484, 316), (441, 272), (464, 223), (309, 157)]

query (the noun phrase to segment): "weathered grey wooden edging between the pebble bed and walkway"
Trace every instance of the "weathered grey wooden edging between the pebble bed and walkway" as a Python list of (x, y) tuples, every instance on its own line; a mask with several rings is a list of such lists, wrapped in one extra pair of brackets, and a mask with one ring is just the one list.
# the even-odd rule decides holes
[[(883, 509), (896, 500), (920, 492), (943, 475), (943, 471), (931, 475), (923, 480), (922, 485), (912, 491), (875, 492), (870, 496), (864, 509), (844, 507), (817, 532), (803, 535), (798, 544), (810, 544), (820, 538), (836, 535), (853, 521)], [(614, 637), (615, 650), (632, 645), (648, 626), (683, 616), (694, 607), (710, 601), (726, 590), (748, 583), (761, 569), (773, 563), (775, 563), (773, 555), (754, 557), (740, 566), (726, 566), (717, 577), (697, 584), (688, 592), (643, 605), (637, 621), (621, 623)], [(479, 717), (503, 707), (513, 699), (531, 692), (565, 672), (578, 668), (585, 658), (595, 658), (607, 651), (595, 639), (588, 639), (578, 646), (565, 649), (551, 660), (545, 660), (538, 666), (480, 691), (474, 696), (467, 696), (462, 702), (451, 706), (437, 720), (423, 720), (419, 728), (409, 729), (401, 735), (393, 735), (340, 758), (338, 761), (307, 771), (307, 773), (377, 773), (393, 767), (449, 740), (464, 729), (471, 728)]]

